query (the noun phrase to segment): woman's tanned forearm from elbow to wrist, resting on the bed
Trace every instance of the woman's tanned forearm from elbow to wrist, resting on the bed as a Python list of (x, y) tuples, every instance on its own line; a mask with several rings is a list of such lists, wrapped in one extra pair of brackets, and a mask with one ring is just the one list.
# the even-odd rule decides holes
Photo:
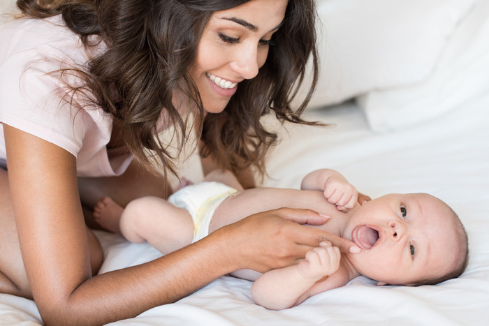
[[(235, 269), (226, 240), (205, 238), (143, 265), (87, 279), (62, 306), (43, 309), (46, 325), (100, 325), (175, 302)], [(229, 253), (229, 255), (228, 255)]]

